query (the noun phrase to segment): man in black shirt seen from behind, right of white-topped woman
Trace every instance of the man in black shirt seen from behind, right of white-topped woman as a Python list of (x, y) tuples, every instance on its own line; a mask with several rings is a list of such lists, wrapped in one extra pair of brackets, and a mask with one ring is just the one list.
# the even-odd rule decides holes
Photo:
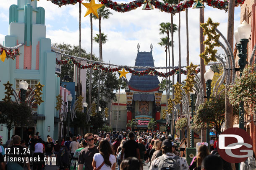
[(128, 134), (129, 140), (125, 141), (122, 147), (121, 153), (121, 162), (123, 160), (123, 154), (125, 154), (125, 158), (127, 157), (137, 157), (140, 160), (140, 151), (138, 147), (138, 143), (134, 140), (134, 133), (130, 132)]

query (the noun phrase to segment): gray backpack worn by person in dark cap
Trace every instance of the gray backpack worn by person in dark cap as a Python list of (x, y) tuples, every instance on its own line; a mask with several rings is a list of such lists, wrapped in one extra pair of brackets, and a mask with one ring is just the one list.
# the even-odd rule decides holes
[(159, 163), (158, 163), (158, 170), (179, 170), (180, 165), (178, 164), (178, 156), (175, 156), (173, 158), (171, 157), (158, 157)]

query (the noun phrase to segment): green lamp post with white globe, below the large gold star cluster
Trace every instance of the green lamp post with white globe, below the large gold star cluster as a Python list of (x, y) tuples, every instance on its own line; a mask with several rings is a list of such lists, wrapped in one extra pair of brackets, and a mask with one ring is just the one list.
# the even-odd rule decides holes
[[(206, 83), (206, 97), (207, 97), (207, 101), (209, 101), (210, 96), (211, 96), (211, 84), (212, 84), (212, 79), (214, 76), (214, 72), (209, 69), (205, 72), (204, 74), (204, 79), (207, 80)], [(209, 129), (206, 129), (206, 142), (209, 144), (210, 142), (210, 131)], [(210, 148), (210, 145), (208, 145), (208, 149)]]

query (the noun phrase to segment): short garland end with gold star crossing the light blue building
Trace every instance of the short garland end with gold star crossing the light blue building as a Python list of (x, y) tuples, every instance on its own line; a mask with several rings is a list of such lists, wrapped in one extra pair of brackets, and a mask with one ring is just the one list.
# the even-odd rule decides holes
[[(17, 46), (14, 46), (14, 47), (5, 47), (5, 46), (2, 46), (0, 44), (0, 56), (1, 56), (1, 60), (4, 62), (5, 61), (5, 58), (9, 59), (15, 59), (16, 56), (19, 56), (20, 55), (20, 51), (18, 48), (20, 48), (21, 46), (24, 46), (24, 43), (21, 43)], [(3, 58), (3, 59), (2, 59)]]

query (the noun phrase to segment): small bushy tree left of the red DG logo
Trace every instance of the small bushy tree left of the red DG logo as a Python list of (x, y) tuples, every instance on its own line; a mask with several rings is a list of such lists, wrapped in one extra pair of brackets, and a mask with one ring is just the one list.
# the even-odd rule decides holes
[[(237, 106), (236, 109), (237, 110)], [(238, 112), (235, 112), (238, 115)], [(216, 129), (221, 134), (225, 122), (225, 98), (212, 98), (199, 106), (193, 117), (192, 129)]]

